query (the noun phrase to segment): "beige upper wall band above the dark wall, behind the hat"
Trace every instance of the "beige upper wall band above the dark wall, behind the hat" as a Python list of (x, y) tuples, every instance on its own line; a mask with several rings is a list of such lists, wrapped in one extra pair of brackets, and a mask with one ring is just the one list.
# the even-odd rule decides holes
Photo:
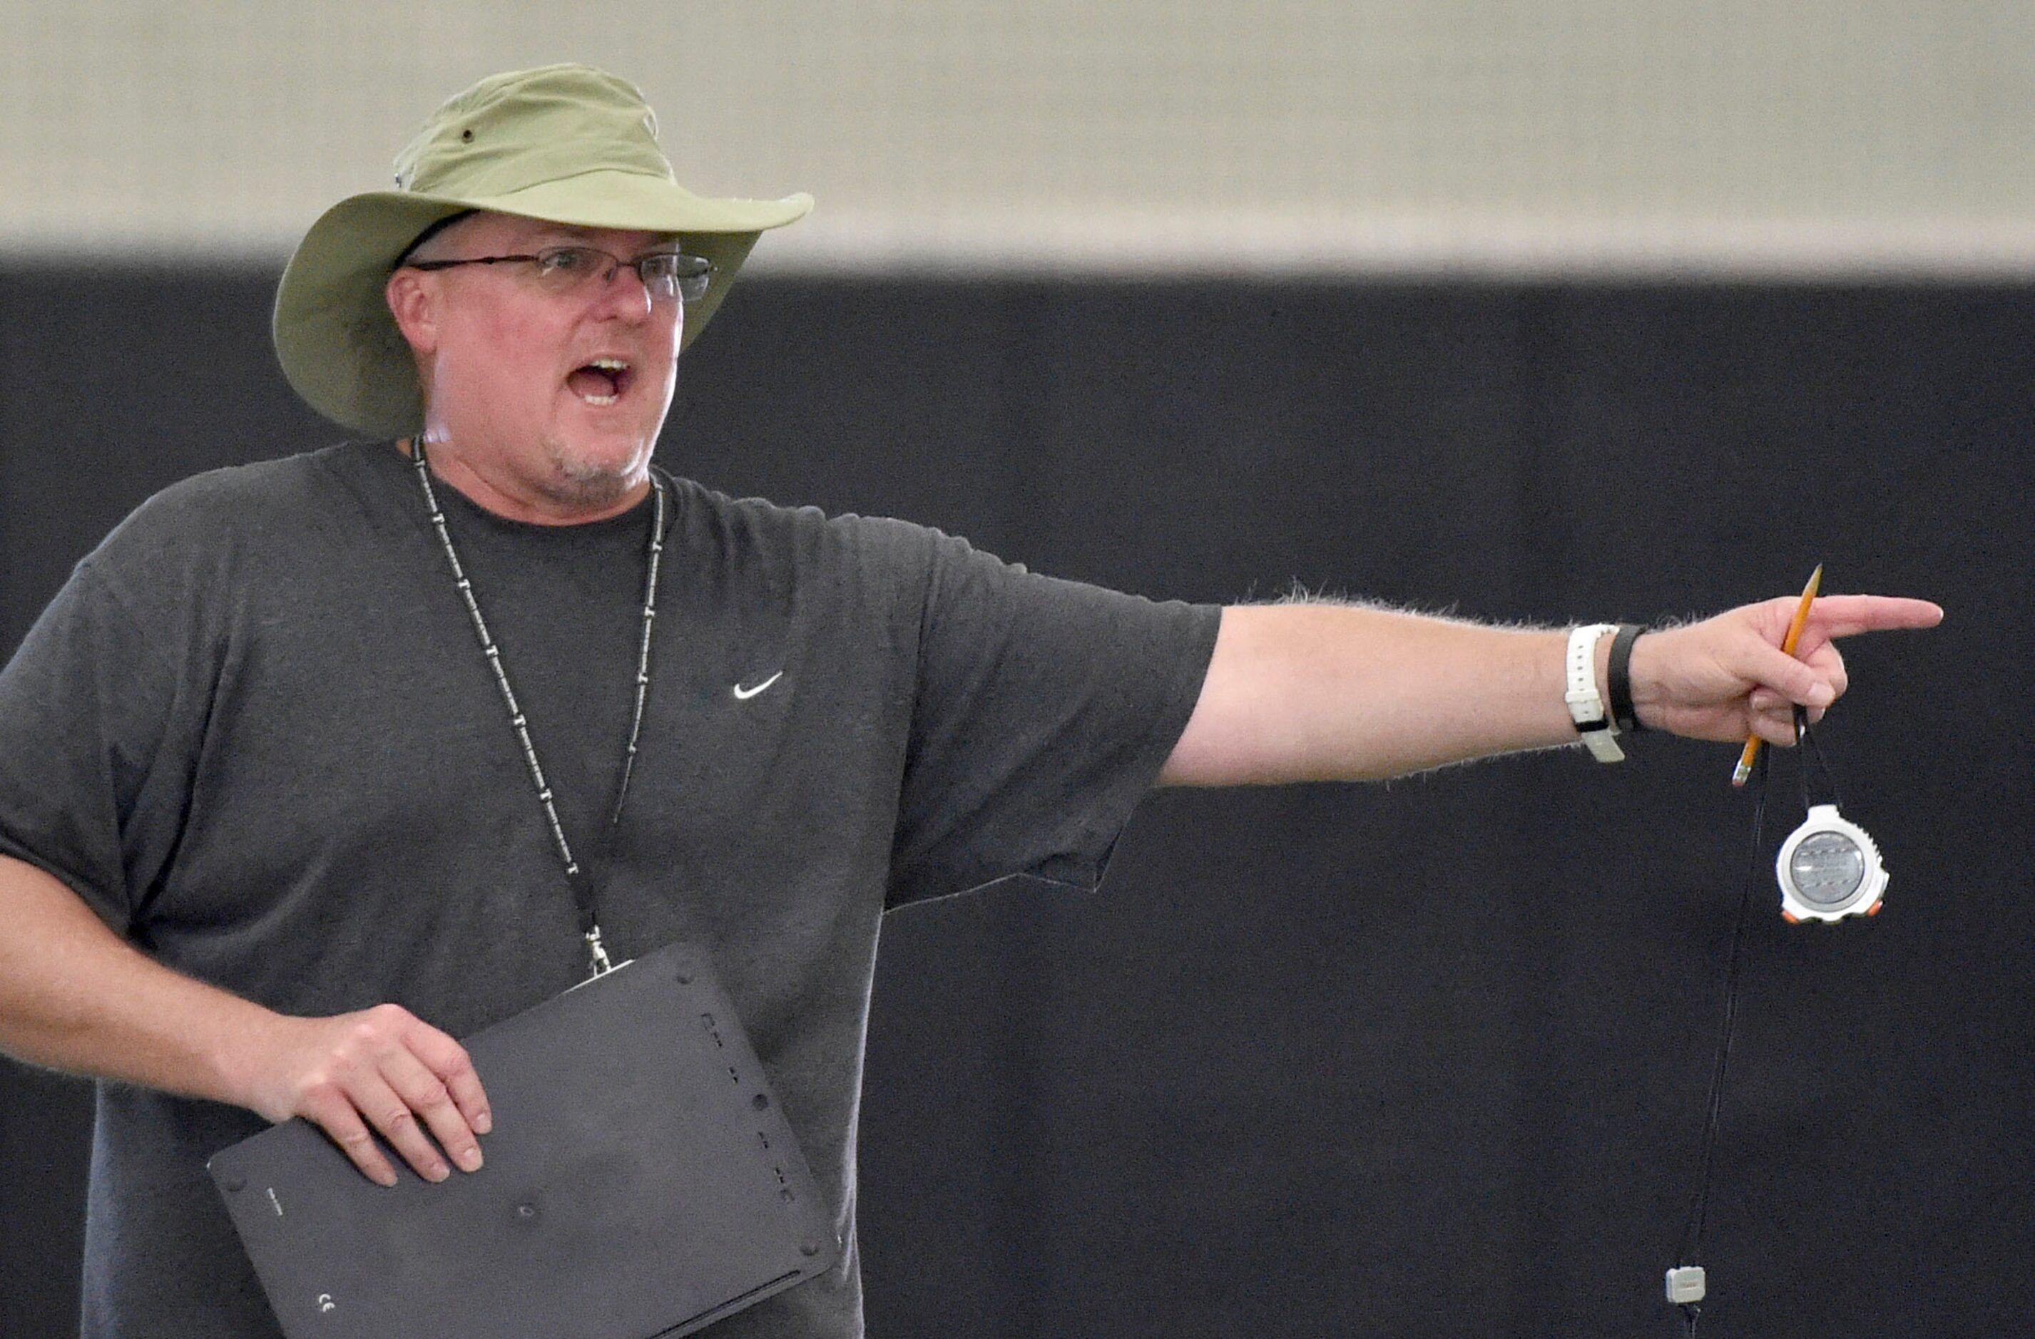
[(761, 265), (2035, 273), (2035, 2), (0, 0), (0, 246), (275, 256), (606, 65)]

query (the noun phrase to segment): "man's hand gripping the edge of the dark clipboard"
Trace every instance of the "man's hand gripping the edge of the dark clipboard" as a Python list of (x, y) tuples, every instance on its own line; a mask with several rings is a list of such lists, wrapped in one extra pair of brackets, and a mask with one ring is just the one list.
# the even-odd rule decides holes
[(301, 1115), (319, 1125), (368, 1180), (395, 1184), (370, 1127), (425, 1180), (452, 1174), (446, 1154), (480, 1170), (476, 1136), (492, 1125), (480, 1076), (466, 1048), (407, 1009), (271, 1015), (246, 1064), (242, 1105), (271, 1121)]

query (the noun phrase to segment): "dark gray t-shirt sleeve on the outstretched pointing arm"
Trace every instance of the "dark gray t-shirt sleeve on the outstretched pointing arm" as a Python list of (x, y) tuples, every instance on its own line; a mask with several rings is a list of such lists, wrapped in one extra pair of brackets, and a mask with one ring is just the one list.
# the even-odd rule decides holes
[(932, 541), (889, 906), (1009, 875), (1093, 889), (1195, 710), (1221, 610)]

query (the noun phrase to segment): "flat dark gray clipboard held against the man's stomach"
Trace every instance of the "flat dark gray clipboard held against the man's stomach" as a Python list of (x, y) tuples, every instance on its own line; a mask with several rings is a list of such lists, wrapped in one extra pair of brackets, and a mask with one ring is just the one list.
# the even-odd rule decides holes
[(206, 1166), (289, 1339), (690, 1335), (840, 1260), (706, 956), (672, 944), (495, 1024), (486, 1166), (362, 1176), (295, 1119)]

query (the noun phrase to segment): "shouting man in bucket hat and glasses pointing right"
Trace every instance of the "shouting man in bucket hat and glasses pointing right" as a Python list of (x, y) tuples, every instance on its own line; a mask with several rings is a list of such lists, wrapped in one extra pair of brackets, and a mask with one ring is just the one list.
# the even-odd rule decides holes
[[(486, 79), (305, 236), (291, 385), (370, 442), (147, 503), (0, 676), (0, 1046), (96, 1074), (88, 1335), (271, 1335), (204, 1160), (303, 1115), (391, 1184), (482, 1164), (452, 1040), (676, 938), (712, 950), (849, 1249), (716, 1327), (857, 1335), (877, 922), (1093, 885), (1154, 783), (1384, 777), (1606, 716), (1785, 741), (1793, 600), (1604, 637), (1195, 608), (651, 468), (676, 356), (810, 201), (672, 181), (627, 83)], [(1571, 663), (1573, 661), (1573, 663)]]

